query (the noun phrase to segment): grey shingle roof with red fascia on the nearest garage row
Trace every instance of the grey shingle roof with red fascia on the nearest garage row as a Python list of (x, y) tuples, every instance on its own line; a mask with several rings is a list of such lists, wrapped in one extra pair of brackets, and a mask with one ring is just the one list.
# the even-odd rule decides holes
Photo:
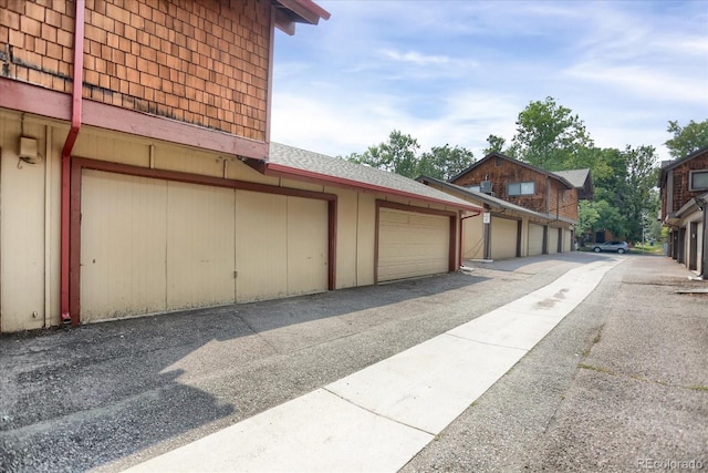
[(270, 144), (268, 162), (262, 163), (249, 160), (249, 164), (266, 175), (393, 194), (417, 200), (444, 204), (457, 209), (476, 213), (483, 212), (483, 208), (469, 202), (408, 177), (280, 143)]

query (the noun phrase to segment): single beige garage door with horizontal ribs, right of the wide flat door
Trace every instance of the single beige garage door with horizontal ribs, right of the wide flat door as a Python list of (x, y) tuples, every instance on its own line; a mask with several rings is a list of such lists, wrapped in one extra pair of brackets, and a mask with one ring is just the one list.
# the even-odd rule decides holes
[(449, 250), (449, 217), (379, 209), (379, 281), (447, 273)]

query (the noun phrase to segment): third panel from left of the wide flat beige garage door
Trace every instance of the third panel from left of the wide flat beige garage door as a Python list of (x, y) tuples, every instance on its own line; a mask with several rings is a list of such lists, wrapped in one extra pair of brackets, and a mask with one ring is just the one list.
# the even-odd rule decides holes
[(237, 191), (236, 297), (239, 302), (288, 295), (288, 198)]

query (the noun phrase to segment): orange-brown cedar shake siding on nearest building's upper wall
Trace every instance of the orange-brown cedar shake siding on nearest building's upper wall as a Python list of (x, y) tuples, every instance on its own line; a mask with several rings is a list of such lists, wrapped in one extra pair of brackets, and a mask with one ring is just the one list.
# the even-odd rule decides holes
[[(267, 140), (271, 3), (86, 0), (83, 97)], [(0, 0), (0, 75), (71, 93), (73, 1)]]

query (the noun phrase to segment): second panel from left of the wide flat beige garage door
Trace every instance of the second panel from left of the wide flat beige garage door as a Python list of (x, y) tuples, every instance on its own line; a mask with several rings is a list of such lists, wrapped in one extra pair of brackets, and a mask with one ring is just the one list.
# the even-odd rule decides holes
[(233, 207), (233, 189), (168, 183), (168, 309), (236, 301)]

